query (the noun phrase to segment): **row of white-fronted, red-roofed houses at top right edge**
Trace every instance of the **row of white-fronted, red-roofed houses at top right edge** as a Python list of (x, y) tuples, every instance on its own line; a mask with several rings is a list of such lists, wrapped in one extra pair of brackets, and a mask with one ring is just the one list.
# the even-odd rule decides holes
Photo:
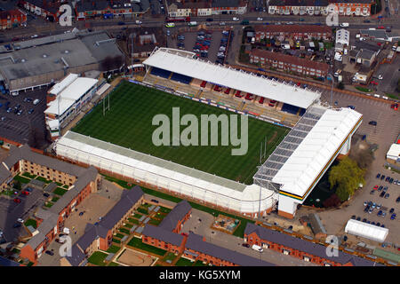
[(268, 13), (280, 15), (370, 16), (373, 0), (270, 0)]

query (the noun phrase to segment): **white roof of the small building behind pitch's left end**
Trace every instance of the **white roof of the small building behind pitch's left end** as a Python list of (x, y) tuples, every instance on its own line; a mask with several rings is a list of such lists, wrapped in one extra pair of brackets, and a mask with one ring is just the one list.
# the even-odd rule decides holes
[[(71, 79), (67, 77), (66, 80), (70, 82)], [(74, 81), (65, 86), (64, 90), (59, 92), (57, 99), (52, 100), (48, 104), (49, 107), (47, 107), (47, 109), (44, 111), (44, 114), (64, 114), (69, 107), (75, 104), (77, 99), (80, 99), (87, 91), (91, 90), (91, 88), (96, 85), (97, 82), (97, 79), (92, 78), (76, 78)]]

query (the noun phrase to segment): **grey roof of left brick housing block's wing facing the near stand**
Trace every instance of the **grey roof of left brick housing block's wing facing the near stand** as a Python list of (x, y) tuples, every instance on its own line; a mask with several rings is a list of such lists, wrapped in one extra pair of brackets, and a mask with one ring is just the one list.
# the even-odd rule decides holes
[(20, 147), (12, 146), (9, 155), (4, 160), (4, 163), (7, 165), (8, 169), (11, 169), (12, 166), (20, 160), (35, 162), (53, 170), (68, 173), (74, 177), (80, 176), (86, 170), (85, 168), (76, 166), (72, 163), (63, 162), (44, 154), (33, 152), (28, 145)]

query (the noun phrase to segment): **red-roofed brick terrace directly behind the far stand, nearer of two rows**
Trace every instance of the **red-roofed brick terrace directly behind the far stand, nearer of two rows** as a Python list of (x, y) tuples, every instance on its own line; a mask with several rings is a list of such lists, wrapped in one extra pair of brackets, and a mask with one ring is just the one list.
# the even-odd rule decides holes
[(249, 55), (250, 63), (260, 64), (261, 67), (273, 67), (280, 71), (317, 77), (324, 77), (329, 71), (329, 65), (324, 62), (301, 59), (280, 52), (254, 49)]

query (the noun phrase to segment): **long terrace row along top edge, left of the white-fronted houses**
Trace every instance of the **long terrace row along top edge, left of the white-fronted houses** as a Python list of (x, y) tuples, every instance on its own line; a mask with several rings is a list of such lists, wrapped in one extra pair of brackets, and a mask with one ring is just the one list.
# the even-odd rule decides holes
[(28, 12), (32, 12), (39, 17), (49, 21), (58, 21), (60, 6), (68, 4), (75, 13), (72, 16), (76, 20), (87, 20), (94, 18), (132, 18), (141, 16), (148, 12), (150, 4), (148, 0), (132, 2), (130, 0), (20, 0), (19, 5)]

